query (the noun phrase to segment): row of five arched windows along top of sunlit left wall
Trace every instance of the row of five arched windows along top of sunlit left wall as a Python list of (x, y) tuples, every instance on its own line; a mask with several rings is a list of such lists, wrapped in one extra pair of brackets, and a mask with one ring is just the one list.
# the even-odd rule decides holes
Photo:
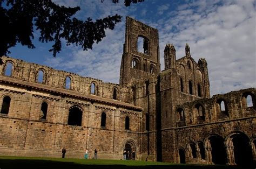
[[(13, 65), (12, 65), (11, 62), (6, 63), (5, 71), (4, 71), (5, 76), (11, 76), (12, 67), (13, 67)], [(38, 72), (37, 72), (37, 75), (36, 75), (36, 82), (44, 84), (45, 83), (45, 78), (44, 78), (45, 75), (44, 74), (45, 73), (44, 73), (43, 69), (38, 69)], [(70, 76), (66, 76), (65, 89), (71, 89), (71, 78), (70, 78)], [(113, 88), (112, 98), (114, 100), (117, 100), (117, 91), (118, 91), (117, 88)], [(97, 95), (97, 86), (96, 86), (95, 82), (91, 83), (90, 94)]]

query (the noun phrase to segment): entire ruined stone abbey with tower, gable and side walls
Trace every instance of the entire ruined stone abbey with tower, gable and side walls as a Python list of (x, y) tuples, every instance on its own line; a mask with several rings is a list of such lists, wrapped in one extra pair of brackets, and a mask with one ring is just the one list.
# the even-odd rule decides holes
[(3, 56), (0, 155), (253, 164), (255, 88), (210, 98), (205, 59), (167, 44), (160, 71), (159, 55), (158, 30), (126, 17), (119, 84)]

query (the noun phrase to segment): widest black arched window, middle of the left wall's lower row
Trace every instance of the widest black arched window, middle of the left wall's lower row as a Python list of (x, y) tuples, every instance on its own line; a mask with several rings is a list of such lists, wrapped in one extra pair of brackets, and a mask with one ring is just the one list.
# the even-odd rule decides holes
[(82, 125), (82, 115), (83, 115), (82, 109), (77, 105), (73, 105), (69, 109), (68, 125), (81, 126)]

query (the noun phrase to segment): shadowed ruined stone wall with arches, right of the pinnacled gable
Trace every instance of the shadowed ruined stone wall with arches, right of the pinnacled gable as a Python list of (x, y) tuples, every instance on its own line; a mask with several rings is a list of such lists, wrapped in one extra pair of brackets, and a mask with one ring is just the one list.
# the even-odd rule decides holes
[[(186, 163), (214, 163), (216, 156), (211, 152), (211, 139), (217, 136), (223, 139), (227, 154), (227, 163), (235, 164), (235, 159), (231, 156), (234, 151), (232, 139), (238, 137), (243, 140), (242, 144), (250, 143), (251, 150), (256, 139), (256, 107), (254, 88), (232, 91), (223, 95), (214, 95), (212, 98), (202, 98), (193, 102), (187, 102), (176, 107), (176, 127), (162, 129), (163, 157), (164, 161), (175, 161), (179, 163), (178, 151), (183, 149), (186, 154)], [(251, 97), (251, 105), (247, 105), (246, 100)], [(225, 108), (221, 108), (221, 102), (225, 103)], [(198, 107), (201, 106), (201, 108)], [(250, 106), (250, 107), (249, 107)], [(177, 109), (184, 110), (185, 119), (180, 121), (180, 114)], [(202, 112), (199, 112), (202, 111)], [(202, 114), (201, 114), (202, 113)], [(175, 134), (173, 134), (173, 131)], [(172, 140), (173, 139), (173, 140)], [(175, 147), (169, 144), (175, 143)], [(192, 156), (190, 144), (198, 146), (201, 143), (205, 158), (202, 158), (199, 150), (196, 150), (196, 157)], [(231, 146), (232, 144), (232, 146)], [(219, 147), (221, 149), (221, 146)], [(238, 149), (238, 147), (236, 147)], [(173, 152), (169, 157), (166, 155)], [(249, 151), (249, 153), (250, 153)], [(255, 153), (255, 150), (253, 150)], [(252, 153), (252, 152), (251, 152)], [(238, 156), (238, 155), (237, 155)], [(244, 154), (242, 156), (245, 156)], [(255, 158), (255, 157), (254, 157)], [(217, 161), (218, 162), (218, 161)], [(215, 163), (217, 163), (215, 161)]]

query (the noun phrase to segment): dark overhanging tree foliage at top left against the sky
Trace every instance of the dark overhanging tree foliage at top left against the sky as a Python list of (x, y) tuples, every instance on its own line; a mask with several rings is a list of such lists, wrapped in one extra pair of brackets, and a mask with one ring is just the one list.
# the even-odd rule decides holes
[[(129, 6), (142, 1), (124, 2)], [(118, 0), (113, 0), (113, 3), (118, 3)], [(53, 52), (53, 57), (61, 51), (62, 39), (65, 39), (66, 45), (76, 44), (82, 46), (83, 50), (92, 49), (93, 43), (98, 43), (106, 36), (105, 29), (113, 30), (122, 18), (116, 14), (95, 22), (91, 18), (83, 21), (72, 17), (78, 10), (79, 7), (66, 8), (51, 0), (0, 0), (0, 56), (10, 53), (8, 49), (17, 43), (35, 48), (31, 41), (34, 28), (40, 31), (39, 41), (54, 42), (49, 50)]]

